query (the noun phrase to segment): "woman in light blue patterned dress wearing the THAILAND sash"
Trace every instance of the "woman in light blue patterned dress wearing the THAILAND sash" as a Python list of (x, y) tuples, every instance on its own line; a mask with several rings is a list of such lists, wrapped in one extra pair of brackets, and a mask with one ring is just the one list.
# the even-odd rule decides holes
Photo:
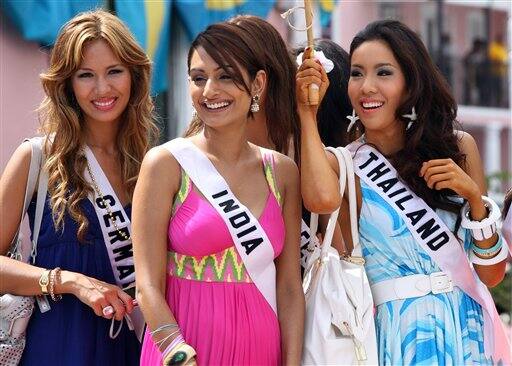
[[(503, 279), (508, 253), (496, 232), (499, 209), (482, 196), (475, 141), (454, 129), (457, 106), (446, 81), (420, 38), (397, 21), (373, 22), (358, 33), (350, 61), (349, 130), (358, 138), (348, 149), (377, 306), (379, 362), (510, 362), (486, 288)], [(316, 107), (307, 105), (312, 83), (322, 97), (327, 75), (306, 60), (297, 74), (301, 190), (307, 208), (327, 213), (342, 201), (328, 188), (339, 168), (320, 144)], [(348, 217), (347, 206), (343, 198), (341, 217)]]

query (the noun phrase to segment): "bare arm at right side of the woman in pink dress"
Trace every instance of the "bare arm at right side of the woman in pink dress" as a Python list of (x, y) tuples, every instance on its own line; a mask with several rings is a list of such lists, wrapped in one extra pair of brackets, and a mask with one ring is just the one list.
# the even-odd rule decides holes
[(288, 157), (279, 156), (277, 183), (284, 193), (283, 218), (286, 226), (284, 249), (276, 260), (277, 312), (281, 327), (283, 365), (299, 365), (304, 334), (304, 293), (300, 275), (300, 189), (299, 172)]

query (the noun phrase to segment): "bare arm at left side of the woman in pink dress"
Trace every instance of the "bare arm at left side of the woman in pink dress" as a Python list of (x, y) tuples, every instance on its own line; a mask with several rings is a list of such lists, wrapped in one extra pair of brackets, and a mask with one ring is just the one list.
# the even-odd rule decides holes
[[(154, 148), (142, 162), (133, 195), (132, 238), (137, 300), (150, 330), (176, 324), (165, 300), (165, 283), (167, 229), (180, 176), (179, 165), (171, 154), (164, 148)], [(171, 330), (159, 332), (155, 340), (163, 339)], [(161, 351), (171, 338), (160, 345)]]

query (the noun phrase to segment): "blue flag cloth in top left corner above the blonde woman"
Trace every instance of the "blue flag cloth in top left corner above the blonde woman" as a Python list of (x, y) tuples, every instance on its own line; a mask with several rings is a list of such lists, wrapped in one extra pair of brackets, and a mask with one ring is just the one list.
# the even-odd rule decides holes
[(55, 42), (60, 28), (78, 13), (103, 7), (103, 0), (2, 0), (2, 12), (24, 39), (43, 46)]

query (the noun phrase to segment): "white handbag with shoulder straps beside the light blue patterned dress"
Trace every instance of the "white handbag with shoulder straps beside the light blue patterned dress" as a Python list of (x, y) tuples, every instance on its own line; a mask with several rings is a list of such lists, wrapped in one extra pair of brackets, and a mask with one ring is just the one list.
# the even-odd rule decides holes
[[(306, 320), (304, 365), (376, 365), (377, 340), (370, 285), (359, 244), (354, 168), (348, 150), (327, 148), (340, 167), (340, 192), (348, 182), (350, 224), (354, 250), (341, 257), (331, 246), (339, 208), (329, 218), (321, 247), (314, 249), (304, 276)], [(315, 235), (318, 215), (311, 214)]]

